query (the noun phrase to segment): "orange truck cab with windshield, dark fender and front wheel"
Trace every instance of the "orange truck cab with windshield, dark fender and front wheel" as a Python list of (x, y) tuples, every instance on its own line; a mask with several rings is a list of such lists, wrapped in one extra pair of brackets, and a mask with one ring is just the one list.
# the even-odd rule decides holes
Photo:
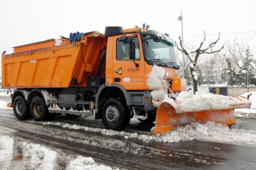
[[(119, 26), (106, 27), (105, 36), (105, 91), (113, 91), (112, 94), (117, 96), (111, 100), (119, 100), (124, 109), (117, 109), (117, 106), (113, 105), (109, 107), (109, 111), (103, 104), (106, 104), (107, 100), (99, 104), (98, 101), (104, 98), (104, 95), (100, 95), (96, 97), (96, 108), (99, 110), (96, 110), (96, 118), (102, 118), (105, 126), (116, 129), (114, 126), (119, 119), (116, 115), (120, 115), (119, 110), (126, 110), (130, 117), (136, 117), (143, 123), (152, 123), (155, 121), (156, 108), (152, 104), (147, 79), (153, 65), (166, 70), (173, 91), (186, 90), (186, 80), (178, 76), (175, 41), (156, 31), (144, 28), (122, 30)], [(97, 94), (101, 94), (101, 89)], [(99, 116), (97, 113), (100, 113)]]

